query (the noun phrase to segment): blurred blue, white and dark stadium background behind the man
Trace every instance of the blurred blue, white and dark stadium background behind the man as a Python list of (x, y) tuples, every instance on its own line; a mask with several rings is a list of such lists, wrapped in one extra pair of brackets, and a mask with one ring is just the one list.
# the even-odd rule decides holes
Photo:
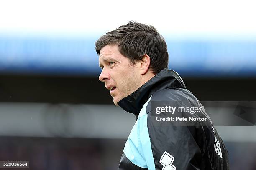
[[(256, 100), (254, 7), (251, 1), (0, 2), (0, 161), (30, 161), (35, 170), (117, 169), (135, 117), (115, 107), (98, 81), (94, 42), (129, 20), (159, 30), (169, 68), (199, 100)], [(216, 128), (230, 169), (255, 170), (255, 126)]]

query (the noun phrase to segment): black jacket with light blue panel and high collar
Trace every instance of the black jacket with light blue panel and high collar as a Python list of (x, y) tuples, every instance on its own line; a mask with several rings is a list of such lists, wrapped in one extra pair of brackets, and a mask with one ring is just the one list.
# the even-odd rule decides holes
[[(118, 105), (136, 116), (119, 170), (229, 170), (228, 151), (204, 109), (156, 114), (160, 105), (203, 108), (173, 70), (161, 70)], [(159, 121), (168, 117), (206, 121)]]

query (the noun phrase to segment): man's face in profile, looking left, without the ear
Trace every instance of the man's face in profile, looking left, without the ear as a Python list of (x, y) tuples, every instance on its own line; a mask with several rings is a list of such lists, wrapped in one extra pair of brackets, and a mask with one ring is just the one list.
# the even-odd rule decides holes
[(105, 82), (115, 105), (140, 87), (138, 65), (132, 65), (117, 45), (106, 45), (100, 50), (99, 64), (102, 68), (99, 80)]

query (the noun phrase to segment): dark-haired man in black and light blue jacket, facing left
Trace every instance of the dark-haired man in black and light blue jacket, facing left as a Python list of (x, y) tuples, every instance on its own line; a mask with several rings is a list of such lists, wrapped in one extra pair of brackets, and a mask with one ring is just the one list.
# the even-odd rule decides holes
[[(102, 68), (99, 80), (110, 90), (115, 105), (136, 116), (119, 170), (229, 169), (223, 141), (181, 77), (167, 69), (167, 45), (153, 26), (122, 25), (100, 37), (95, 49)], [(182, 124), (179, 119), (181, 124), (161, 121), (174, 114), (167, 111), (167, 105), (156, 107), (166, 102), (169, 109), (201, 108), (201, 113), (183, 110), (182, 119), (189, 115), (209, 119), (192, 124)], [(164, 108), (161, 114), (156, 112), (158, 108)]]

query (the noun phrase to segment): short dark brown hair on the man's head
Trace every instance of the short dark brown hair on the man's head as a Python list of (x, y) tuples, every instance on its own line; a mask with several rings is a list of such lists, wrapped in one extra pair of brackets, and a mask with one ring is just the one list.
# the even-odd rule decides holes
[(106, 33), (95, 42), (98, 55), (106, 45), (118, 45), (119, 52), (133, 64), (147, 54), (151, 60), (149, 69), (154, 74), (168, 67), (166, 42), (153, 26), (131, 21)]

